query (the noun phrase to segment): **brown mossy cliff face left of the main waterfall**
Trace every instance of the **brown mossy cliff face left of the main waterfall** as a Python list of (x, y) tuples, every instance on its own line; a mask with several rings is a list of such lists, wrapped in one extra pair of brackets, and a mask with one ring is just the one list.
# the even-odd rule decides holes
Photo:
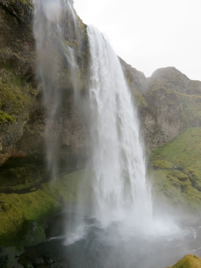
[[(44, 130), (51, 107), (47, 109), (43, 106), (41, 81), (36, 82), (37, 57), (32, 33), (32, 9), (31, 1), (0, 0), (0, 165), (10, 156), (45, 152)], [(66, 23), (65, 42), (74, 48), (79, 64), (77, 90), (79, 95), (85, 95), (88, 61), (86, 26), (79, 17), (76, 19), (81, 45), (76, 40), (75, 29), (67, 32), (69, 21), (65, 17), (62, 23)], [(57, 154), (66, 150), (77, 153), (86, 146), (87, 123), (82, 105), (74, 104), (69, 66), (57, 71), (62, 102), (59, 116), (51, 123), (54, 125), (51, 136), (59, 133), (58, 145), (61, 150)]]

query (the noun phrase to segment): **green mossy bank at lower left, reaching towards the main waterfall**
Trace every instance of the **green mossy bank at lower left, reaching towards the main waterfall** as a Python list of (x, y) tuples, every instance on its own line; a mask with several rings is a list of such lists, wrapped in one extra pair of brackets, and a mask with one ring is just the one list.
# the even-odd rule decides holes
[[(91, 177), (91, 170), (63, 174), (60, 178), (42, 183), (41, 189), (25, 194), (0, 193), (0, 246), (19, 244), (24, 226), (30, 221), (44, 225), (54, 212), (77, 199), (78, 183)], [(82, 192), (86, 197), (89, 191)]]

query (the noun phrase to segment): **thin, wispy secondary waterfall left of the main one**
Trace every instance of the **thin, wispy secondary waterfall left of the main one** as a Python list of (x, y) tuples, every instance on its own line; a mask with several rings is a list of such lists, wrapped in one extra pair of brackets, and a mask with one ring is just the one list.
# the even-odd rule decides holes
[[(74, 51), (67, 45), (73, 43), (73, 14), (68, 0), (67, 2), (65, 0), (33, 0), (33, 4), (37, 79), (43, 90), (46, 114), (47, 168), (51, 177), (56, 178), (59, 159), (56, 155), (60, 146), (58, 124), (64, 121), (64, 117), (61, 118), (62, 101), (65, 94), (61, 74), (65, 71), (65, 76), (68, 76), (71, 81), (71, 85), (65, 85), (65, 87), (74, 87), (78, 69)], [(66, 25), (67, 22), (69, 22), (68, 25)]]

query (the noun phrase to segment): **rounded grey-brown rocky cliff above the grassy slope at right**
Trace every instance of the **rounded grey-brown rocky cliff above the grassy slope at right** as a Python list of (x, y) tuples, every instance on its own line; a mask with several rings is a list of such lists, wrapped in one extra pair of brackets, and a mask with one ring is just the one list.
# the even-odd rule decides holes
[(201, 126), (201, 82), (174, 67), (156, 70), (146, 79), (146, 107), (140, 118), (148, 147), (158, 147), (186, 127)]

